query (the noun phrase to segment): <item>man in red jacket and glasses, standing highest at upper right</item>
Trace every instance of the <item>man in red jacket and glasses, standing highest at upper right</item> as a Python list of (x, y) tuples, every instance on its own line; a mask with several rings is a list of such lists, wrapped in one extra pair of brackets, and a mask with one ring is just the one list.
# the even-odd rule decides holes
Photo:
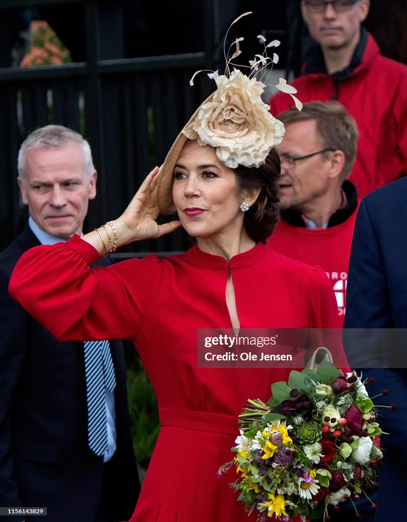
[[(380, 54), (362, 26), (369, 7), (369, 0), (302, 0), (311, 43), (292, 81), (303, 103), (338, 100), (355, 118), (351, 180), (360, 197), (407, 172), (407, 66)], [(293, 103), (277, 93), (269, 105), (277, 116)]]

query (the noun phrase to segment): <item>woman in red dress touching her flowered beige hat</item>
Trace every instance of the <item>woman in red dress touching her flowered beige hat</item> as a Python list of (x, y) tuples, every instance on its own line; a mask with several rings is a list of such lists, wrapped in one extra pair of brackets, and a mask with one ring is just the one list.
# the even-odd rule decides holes
[[(198, 329), (339, 326), (325, 272), (265, 245), (278, 220), (273, 146), (283, 127), (261, 101), (262, 84), (238, 71), (215, 79), (218, 89), (122, 216), (33, 248), (10, 283), (11, 295), (61, 341), (133, 340), (161, 431), (131, 522), (256, 520), (229, 486), (236, 472), (217, 471), (232, 458), (247, 399), (267, 400), (290, 369), (198, 367)], [(179, 221), (157, 223), (173, 210)], [(196, 238), (184, 254), (89, 268), (111, 249), (179, 226)]]

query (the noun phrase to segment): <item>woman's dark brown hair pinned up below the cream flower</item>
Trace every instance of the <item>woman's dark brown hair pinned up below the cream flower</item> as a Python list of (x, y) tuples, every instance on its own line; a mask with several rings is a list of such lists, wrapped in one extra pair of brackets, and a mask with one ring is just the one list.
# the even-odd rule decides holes
[(280, 158), (271, 149), (260, 167), (236, 167), (237, 186), (242, 194), (252, 194), (260, 188), (255, 203), (245, 212), (245, 227), (250, 238), (266, 243), (279, 221)]

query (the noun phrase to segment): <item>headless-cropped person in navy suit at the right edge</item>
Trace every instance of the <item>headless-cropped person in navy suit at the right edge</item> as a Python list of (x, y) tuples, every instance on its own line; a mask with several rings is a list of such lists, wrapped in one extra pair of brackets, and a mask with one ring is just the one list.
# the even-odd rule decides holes
[[(388, 389), (375, 404), (379, 423), (389, 435), (378, 472), (375, 522), (404, 520), (403, 494), (407, 474), (403, 455), (407, 446), (407, 179), (378, 188), (362, 199), (353, 234), (344, 346), (350, 364), (362, 367), (371, 397)], [(365, 368), (365, 369), (363, 369)], [(368, 370), (367, 370), (368, 369)], [(356, 504), (357, 505), (357, 504)], [(366, 520), (369, 518), (363, 517)]]

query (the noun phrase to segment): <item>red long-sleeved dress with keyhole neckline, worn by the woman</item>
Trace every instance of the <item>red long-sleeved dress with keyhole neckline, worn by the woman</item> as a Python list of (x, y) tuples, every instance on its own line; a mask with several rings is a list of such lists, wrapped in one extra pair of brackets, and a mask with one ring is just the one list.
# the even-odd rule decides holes
[[(58, 254), (57, 254), (58, 252)], [(20, 258), (10, 293), (60, 340), (133, 339), (157, 395), (161, 431), (131, 522), (246, 522), (229, 487), (237, 416), (267, 400), (290, 370), (198, 368), (197, 328), (231, 328), (228, 264), (199, 251), (89, 269), (98, 257), (77, 236)], [(324, 271), (257, 244), (230, 261), (241, 328), (334, 328)]]

